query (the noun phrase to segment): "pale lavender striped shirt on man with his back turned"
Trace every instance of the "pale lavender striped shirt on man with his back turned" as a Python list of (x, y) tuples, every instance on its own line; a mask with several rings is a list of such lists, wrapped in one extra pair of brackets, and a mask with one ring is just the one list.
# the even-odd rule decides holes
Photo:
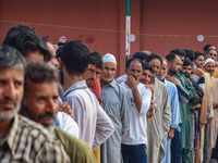
[(78, 138), (96, 149), (114, 131), (114, 127), (105, 113), (96, 96), (85, 80), (77, 82), (64, 92), (64, 100), (73, 111), (73, 118), (78, 125)]

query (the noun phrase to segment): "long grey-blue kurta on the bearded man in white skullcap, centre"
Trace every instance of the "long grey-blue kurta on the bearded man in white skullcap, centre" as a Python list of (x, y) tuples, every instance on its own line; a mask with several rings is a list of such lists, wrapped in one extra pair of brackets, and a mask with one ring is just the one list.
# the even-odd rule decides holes
[(121, 135), (130, 128), (131, 99), (129, 91), (114, 79), (101, 86), (102, 108), (110, 117), (116, 131), (101, 146), (102, 163), (120, 163)]

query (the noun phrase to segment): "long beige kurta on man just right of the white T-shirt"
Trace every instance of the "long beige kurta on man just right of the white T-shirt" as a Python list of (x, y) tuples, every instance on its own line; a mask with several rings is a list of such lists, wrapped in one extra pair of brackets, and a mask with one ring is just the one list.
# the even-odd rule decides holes
[(153, 84), (157, 112), (147, 120), (147, 155), (149, 163), (160, 163), (165, 156), (162, 137), (165, 131), (169, 131), (171, 124), (171, 108), (167, 86), (155, 79)]

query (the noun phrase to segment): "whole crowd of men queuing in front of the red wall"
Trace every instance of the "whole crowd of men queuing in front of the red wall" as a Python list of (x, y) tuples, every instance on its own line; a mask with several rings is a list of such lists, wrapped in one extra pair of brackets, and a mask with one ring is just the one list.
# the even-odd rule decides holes
[(48, 40), (20, 24), (0, 45), (0, 162), (217, 162), (214, 45), (136, 52), (116, 79), (113, 54)]

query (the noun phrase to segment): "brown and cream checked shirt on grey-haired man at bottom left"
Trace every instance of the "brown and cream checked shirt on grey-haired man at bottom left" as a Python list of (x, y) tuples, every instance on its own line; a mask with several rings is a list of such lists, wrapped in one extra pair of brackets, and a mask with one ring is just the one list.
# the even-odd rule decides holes
[(14, 117), (7, 138), (2, 145), (0, 143), (0, 162), (2, 163), (70, 162), (61, 142), (41, 125), (24, 116)]

